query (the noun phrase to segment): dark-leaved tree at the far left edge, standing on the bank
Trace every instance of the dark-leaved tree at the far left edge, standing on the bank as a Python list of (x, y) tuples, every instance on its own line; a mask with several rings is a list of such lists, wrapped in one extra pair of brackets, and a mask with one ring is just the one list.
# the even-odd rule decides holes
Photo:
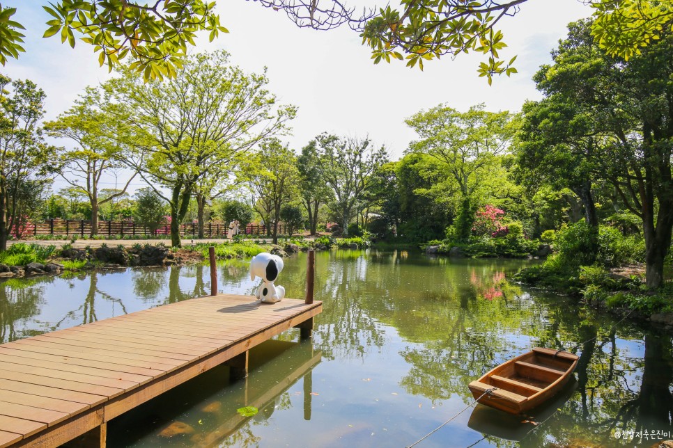
[(31, 206), (26, 186), (57, 168), (51, 160), (54, 147), (45, 143), (38, 127), (44, 101), (45, 93), (32, 81), (0, 75), (0, 250), (6, 250), (10, 232), (25, 222), (25, 207)]

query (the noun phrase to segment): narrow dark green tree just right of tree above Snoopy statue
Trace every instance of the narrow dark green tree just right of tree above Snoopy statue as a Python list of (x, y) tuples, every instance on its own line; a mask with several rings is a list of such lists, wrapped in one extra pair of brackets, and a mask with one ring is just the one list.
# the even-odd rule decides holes
[(299, 170), (298, 188), (302, 205), (309, 218), (309, 232), (311, 235), (315, 235), (318, 229), (320, 205), (325, 204), (332, 198), (332, 191), (320, 179), (318, 147), (315, 140), (311, 140), (308, 145), (302, 148), (302, 154), (297, 157), (297, 170)]

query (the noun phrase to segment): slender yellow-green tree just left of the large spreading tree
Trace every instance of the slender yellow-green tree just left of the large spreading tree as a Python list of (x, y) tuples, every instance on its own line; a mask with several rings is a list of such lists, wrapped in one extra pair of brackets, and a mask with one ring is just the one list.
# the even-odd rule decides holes
[(118, 144), (123, 127), (111, 120), (105, 110), (109, 104), (109, 95), (100, 88), (88, 87), (75, 100), (75, 105), (61, 113), (55, 121), (45, 123), (49, 135), (69, 138), (77, 147), (61, 151), (63, 163), (61, 177), (72, 188), (82, 191), (91, 204), (91, 235), (98, 234), (99, 208), (105, 203), (126, 193), (129, 184), (136, 176), (128, 179), (123, 189), (100, 195), (100, 178), (110, 168), (119, 168), (119, 157), (123, 147)]

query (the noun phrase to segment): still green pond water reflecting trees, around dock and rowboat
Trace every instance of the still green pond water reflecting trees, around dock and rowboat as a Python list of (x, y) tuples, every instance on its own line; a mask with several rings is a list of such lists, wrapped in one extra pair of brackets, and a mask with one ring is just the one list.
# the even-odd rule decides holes
[[(672, 335), (508, 281), (527, 262), (396, 250), (316, 254), (323, 313), (109, 423), (111, 447), (650, 447), (672, 439)], [(304, 254), (278, 283), (302, 298)], [(248, 262), (219, 290), (254, 294)], [(207, 266), (0, 283), (0, 343), (210, 293)], [(575, 381), (528, 420), (468, 407), (470, 381), (533, 346), (573, 349)], [(243, 417), (238, 408), (259, 413)], [(461, 411), (463, 411), (461, 413)], [(668, 435), (666, 435), (668, 434)], [(619, 437), (617, 437), (619, 436)]]

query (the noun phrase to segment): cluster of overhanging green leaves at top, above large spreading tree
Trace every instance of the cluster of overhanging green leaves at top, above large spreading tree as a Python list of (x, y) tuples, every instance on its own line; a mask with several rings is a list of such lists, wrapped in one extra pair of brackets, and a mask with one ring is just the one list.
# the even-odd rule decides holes
[(214, 13), (215, 1), (159, 0), (148, 8), (142, 1), (62, 0), (42, 8), (52, 16), (45, 38), (58, 34), (74, 48), (75, 33), (82, 34), (100, 52), (101, 66), (107, 64), (111, 71), (130, 56), (130, 68), (145, 81), (177, 77), (197, 31), (209, 31), (210, 40), (229, 32)]

